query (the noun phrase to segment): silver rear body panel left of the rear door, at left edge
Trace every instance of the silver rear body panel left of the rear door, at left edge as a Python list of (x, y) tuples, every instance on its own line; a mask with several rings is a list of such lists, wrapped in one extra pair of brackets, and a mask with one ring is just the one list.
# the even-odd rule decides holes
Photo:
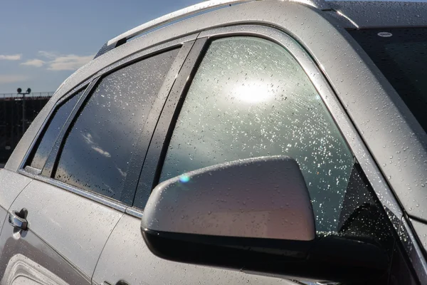
[(9, 170), (0, 170), (0, 232), (6, 221), (7, 211), (31, 178)]

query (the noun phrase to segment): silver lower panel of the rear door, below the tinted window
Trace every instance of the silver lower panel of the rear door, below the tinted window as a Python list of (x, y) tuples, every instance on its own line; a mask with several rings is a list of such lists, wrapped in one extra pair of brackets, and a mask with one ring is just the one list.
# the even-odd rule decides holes
[[(122, 212), (38, 180), (33, 180), (11, 206), (11, 210), (22, 208), (28, 210), (28, 231), (17, 231), (9, 223), (4, 228), (0, 273), (22, 254), (63, 280), (81, 274), (85, 283), (122, 216)], [(26, 274), (32, 271), (31, 266), (23, 268), (28, 270)]]

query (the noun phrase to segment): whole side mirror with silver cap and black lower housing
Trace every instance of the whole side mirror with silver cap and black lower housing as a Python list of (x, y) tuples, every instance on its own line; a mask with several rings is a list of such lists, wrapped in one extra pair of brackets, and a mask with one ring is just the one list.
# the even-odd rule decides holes
[(357, 281), (379, 278), (389, 264), (374, 243), (316, 235), (300, 167), (284, 156), (223, 163), (162, 182), (141, 229), (158, 257), (260, 274)]

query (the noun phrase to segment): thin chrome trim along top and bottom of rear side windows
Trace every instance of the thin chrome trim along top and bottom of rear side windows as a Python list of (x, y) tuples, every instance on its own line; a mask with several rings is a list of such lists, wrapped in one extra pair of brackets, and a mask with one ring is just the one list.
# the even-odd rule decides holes
[[(105, 76), (107, 73), (114, 72), (115, 70), (120, 69), (122, 67), (125, 67), (128, 64), (132, 64), (133, 62), (142, 60), (144, 57), (152, 56), (156, 53), (162, 53), (164, 51), (171, 50), (174, 48), (181, 48), (181, 46), (183, 46), (184, 43), (196, 40), (197, 35), (198, 35), (198, 33), (194, 33), (190, 36), (184, 36), (182, 38), (177, 38), (173, 41), (169, 41), (167, 43), (161, 43), (157, 46), (152, 46), (152, 47), (146, 48), (142, 51), (139, 51), (137, 53), (134, 53), (130, 56), (126, 56), (125, 58), (122, 58), (120, 61), (116, 61), (115, 63), (112, 63), (110, 66), (106, 66), (105, 68), (102, 68), (101, 71), (98, 71), (97, 73), (93, 74), (93, 76), (90, 76), (89, 79), (87, 79), (83, 83), (80, 83), (78, 86), (76, 86), (72, 90), (65, 93), (65, 95), (60, 97), (56, 101), (56, 103), (53, 105), (53, 107), (49, 111), (48, 115), (46, 116), (43, 124), (41, 125), (41, 128), (38, 130), (37, 135), (33, 138), (33, 142), (31, 142), (31, 147), (28, 148), (26, 155), (23, 157), (21, 165), (19, 166), (18, 173), (21, 175), (25, 175), (27, 177), (30, 177), (33, 180), (45, 182), (45, 183), (48, 183), (50, 185), (56, 186), (62, 190), (67, 190), (69, 192), (73, 192), (76, 195), (80, 195), (80, 196), (85, 197), (87, 199), (91, 199), (94, 202), (104, 204), (105, 206), (111, 207), (112, 209), (117, 209), (120, 212), (127, 212), (127, 214), (130, 214), (133, 217), (141, 218), (142, 213), (140, 210), (137, 210), (134, 208), (134, 209), (130, 209), (127, 211), (127, 208), (129, 208), (130, 206), (128, 206), (127, 204), (123, 204), (118, 200), (110, 199), (109, 197), (104, 197), (102, 195), (97, 195), (97, 193), (90, 192), (88, 190), (82, 190), (78, 187), (74, 187), (74, 186), (68, 185), (64, 182), (60, 182), (58, 180), (55, 180), (52, 177), (36, 175), (36, 174), (32, 173), (31, 170), (27, 171), (26, 170), (26, 166), (27, 166), (26, 163), (28, 161), (28, 157), (30, 156), (30, 154), (34, 150), (36, 142), (38, 142), (41, 133), (43, 133), (43, 130), (47, 127), (46, 125), (47, 125), (48, 121), (51, 119), (51, 116), (53, 115), (54, 111), (58, 108), (58, 106), (61, 103), (63, 103), (64, 100), (67, 100), (70, 96), (75, 95), (75, 93), (77, 93), (79, 90), (81, 90), (82, 88), (84, 88), (86, 86), (85, 87), (86, 89), (82, 95), (82, 98), (83, 98), (83, 97), (85, 97), (85, 95), (92, 92), (92, 90), (95, 86), (95, 81), (97, 78), (100, 78), (101, 76)], [(184, 63), (184, 61), (181, 63), (181, 66), (183, 63)], [(174, 63), (172, 63), (172, 66), (173, 65), (174, 65)], [(172, 69), (172, 66), (171, 66), (171, 69)], [(176, 79), (176, 77), (179, 74), (180, 69), (181, 68), (177, 69), (176, 74), (169, 74), (168, 73), (167, 76), (171, 76), (171, 78)], [(164, 83), (162, 84), (162, 86), (163, 85), (164, 85)], [(160, 91), (159, 91), (159, 93), (160, 93)], [(64, 124), (65, 124), (65, 122), (64, 122)], [(36, 173), (36, 171), (35, 171), (35, 173)]]

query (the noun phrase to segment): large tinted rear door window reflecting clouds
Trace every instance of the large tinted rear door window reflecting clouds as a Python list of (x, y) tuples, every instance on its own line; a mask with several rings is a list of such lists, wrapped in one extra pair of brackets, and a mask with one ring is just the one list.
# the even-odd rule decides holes
[(102, 79), (65, 140), (57, 180), (132, 202), (135, 191), (123, 191), (130, 157), (177, 53), (147, 58)]

